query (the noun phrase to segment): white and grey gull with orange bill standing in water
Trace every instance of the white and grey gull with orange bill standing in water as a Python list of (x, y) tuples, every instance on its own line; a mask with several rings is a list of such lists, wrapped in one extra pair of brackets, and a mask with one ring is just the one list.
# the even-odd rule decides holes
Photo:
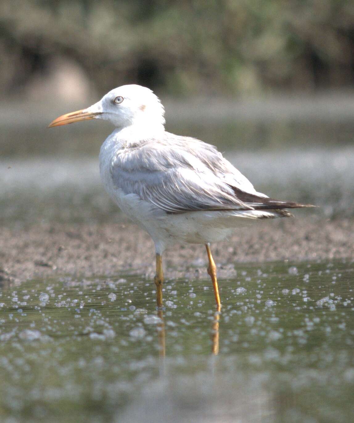
[(205, 244), (218, 311), (221, 302), (210, 244), (241, 222), (292, 216), (286, 209), (311, 207), (257, 192), (215, 146), (165, 131), (164, 108), (140, 85), (123, 85), (100, 101), (60, 116), (49, 127), (88, 119), (115, 129), (101, 146), (100, 175), (112, 200), (155, 243), (157, 306), (162, 308), (162, 254), (175, 242)]

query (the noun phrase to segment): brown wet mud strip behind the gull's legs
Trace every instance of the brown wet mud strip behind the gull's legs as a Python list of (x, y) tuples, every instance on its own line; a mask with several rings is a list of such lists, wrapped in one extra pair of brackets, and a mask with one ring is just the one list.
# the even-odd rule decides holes
[[(354, 260), (354, 219), (305, 217), (257, 222), (212, 245), (221, 278), (235, 277), (237, 263)], [(150, 236), (130, 222), (46, 223), (3, 227), (0, 281), (72, 275), (154, 275)], [(207, 278), (203, 245), (176, 244), (164, 254), (167, 279)]]

